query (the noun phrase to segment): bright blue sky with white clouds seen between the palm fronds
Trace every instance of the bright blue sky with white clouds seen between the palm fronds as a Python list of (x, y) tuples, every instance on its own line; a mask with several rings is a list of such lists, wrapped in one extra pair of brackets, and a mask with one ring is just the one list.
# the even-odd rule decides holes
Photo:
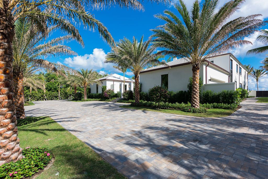
[[(228, 0), (221, 0), (219, 6), (222, 6), (227, 1)], [(193, 0), (187, 0), (185, 2), (187, 3), (188, 8), (190, 8)], [(163, 13), (165, 9), (176, 12), (176, 9), (173, 5), (157, 5), (156, 3), (152, 4), (149, 2), (144, 3), (144, 8), (144, 11), (139, 11), (119, 7), (110, 7), (102, 10), (92, 10), (90, 12), (95, 15), (96, 19), (101, 21), (108, 28), (115, 41), (118, 41), (124, 37), (131, 39), (133, 36), (140, 39), (142, 35), (144, 35), (144, 39), (147, 39), (152, 34), (150, 29), (154, 29), (158, 25), (162, 25), (164, 23), (155, 18), (155, 14)], [(247, 0), (237, 11), (237, 13), (230, 18), (232, 19), (250, 14), (262, 14), (263, 16), (260, 18), (263, 20), (268, 20), (267, 9), (267, 0)], [(262, 29), (268, 29), (268, 25)], [(102, 40), (102, 38), (99, 36), (99, 33), (97, 31), (92, 32), (89, 29), (84, 29), (83, 26), (79, 28), (79, 32), (83, 38), (85, 47), (82, 48), (75, 41), (68, 43), (72, 50), (78, 53), (78, 56), (61, 56), (57, 58), (50, 58), (48, 60), (60, 62), (75, 69), (93, 68), (100, 73), (121, 74), (114, 69), (112, 65), (103, 64), (105, 55), (110, 52), (111, 48)], [(53, 37), (57, 36), (61, 36), (60, 32), (53, 34)], [(258, 33), (247, 37), (247, 40), (250, 40), (253, 43), (253, 46), (245, 45), (231, 50), (230, 52), (232, 52), (242, 64), (251, 64), (255, 68), (258, 68), (260, 66), (260, 62), (266, 57), (265, 54), (252, 56), (245, 55), (247, 50), (262, 46), (260, 42), (255, 41), (256, 36), (258, 36)], [(132, 76), (132, 74), (128, 72), (127, 76)], [(255, 89), (255, 83), (256, 82), (253, 79), (250, 79), (249, 88)], [(268, 90), (268, 76), (265, 76), (262, 80), (260, 80), (259, 88), (262, 90)]]

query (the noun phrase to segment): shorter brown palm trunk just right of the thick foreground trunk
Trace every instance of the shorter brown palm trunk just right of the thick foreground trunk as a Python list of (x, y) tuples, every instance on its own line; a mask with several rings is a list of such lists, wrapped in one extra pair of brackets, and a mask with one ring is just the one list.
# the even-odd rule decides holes
[(24, 119), (24, 87), (23, 87), (23, 74), (14, 75), (15, 86), (15, 108), (17, 119)]

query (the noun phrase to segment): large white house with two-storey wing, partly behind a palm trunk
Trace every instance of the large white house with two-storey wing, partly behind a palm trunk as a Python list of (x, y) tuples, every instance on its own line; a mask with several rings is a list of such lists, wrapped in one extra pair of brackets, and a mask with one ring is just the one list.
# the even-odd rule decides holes
[[(192, 65), (186, 59), (174, 58), (167, 63), (169, 67), (159, 65), (140, 72), (142, 91), (146, 92), (155, 85), (167, 87), (169, 91), (186, 91), (189, 77), (192, 77)], [(236, 71), (237, 68), (237, 71)], [(200, 78), (203, 90), (219, 92), (248, 88), (247, 69), (232, 53), (209, 57), (200, 65)]]

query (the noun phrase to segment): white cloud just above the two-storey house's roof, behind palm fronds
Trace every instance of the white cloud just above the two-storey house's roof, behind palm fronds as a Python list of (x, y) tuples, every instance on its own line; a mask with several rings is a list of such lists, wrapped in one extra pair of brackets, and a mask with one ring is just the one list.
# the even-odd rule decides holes
[(235, 56), (245, 56), (248, 50), (263, 46), (262, 42), (256, 41), (258, 35), (259, 32), (255, 32), (254, 34), (244, 38), (244, 40), (250, 41), (253, 45), (251, 44), (243, 45), (234, 50), (230, 50), (230, 52), (233, 53)]

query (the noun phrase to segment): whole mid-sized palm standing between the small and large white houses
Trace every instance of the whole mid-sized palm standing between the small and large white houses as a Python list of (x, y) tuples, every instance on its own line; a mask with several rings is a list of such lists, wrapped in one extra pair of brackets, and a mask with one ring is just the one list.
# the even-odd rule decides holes
[[(114, 63), (124, 66), (135, 76), (135, 103), (139, 103), (139, 75), (140, 72), (150, 67), (151, 64), (165, 64), (160, 62), (154, 54), (155, 47), (150, 46), (150, 39), (143, 41), (143, 36), (138, 41), (133, 37), (132, 42), (124, 38), (116, 43), (112, 51), (106, 55), (105, 63)], [(166, 64), (165, 64), (166, 65)]]

